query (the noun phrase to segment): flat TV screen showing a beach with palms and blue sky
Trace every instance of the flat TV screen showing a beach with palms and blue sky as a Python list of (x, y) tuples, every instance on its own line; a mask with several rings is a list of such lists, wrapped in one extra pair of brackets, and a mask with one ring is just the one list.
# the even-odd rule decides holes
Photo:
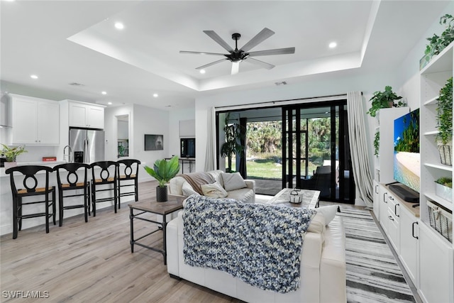
[(394, 180), (419, 192), (419, 109), (394, 120)]

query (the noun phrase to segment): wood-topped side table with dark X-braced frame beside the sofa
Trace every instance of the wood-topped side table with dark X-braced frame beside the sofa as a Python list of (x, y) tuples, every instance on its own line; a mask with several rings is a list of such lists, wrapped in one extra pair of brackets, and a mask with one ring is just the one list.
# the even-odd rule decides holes
[[(175, 211), (178, 211), (179, 209), (183, 208), (183, 202), (182, 199), (170, 199), (170, 201), (167, 202), (156, 202), (153, 199), (148, 199), (144, 201), (139, 201), (139, 202), (133, 202), (131, 204), (128, 204), (130, 214), (129, 214), (129, 219), (131, 220), (131, 253), (134, 252), (134, 244), (138, 246), (142, 246), (151, 250), (155, 250), (158, 253), (162, 253), (162, 256), (164, 257), (164, 264), (167, 264), (167, 246), (166, 246), (166, 233), (165, 229), (167, 226), (167, 214), (172, 214)], [(150, 214), (159, 214), (162, 216), (162, 222), (160, 221), (154, 221), (148, 218), (145, 218), (143, 214), (145, 213), (150, 213)], [(139, 238), (134, 238), (134, 219), (138, 220), (143, 220), (143, 221), (148, 221), (153, 224), (157, 224), (157, 229), (154, 231), (151, 231), (150, 233), (147, 233), (145, 236), (140, 236)], [(162, 246), (163, 248), (155, 248), (151, 246), (147, 246), (143, 243), (139, 243), (138, 241), (152, 235), (153, 233), (157, 231), (162, 231)]]

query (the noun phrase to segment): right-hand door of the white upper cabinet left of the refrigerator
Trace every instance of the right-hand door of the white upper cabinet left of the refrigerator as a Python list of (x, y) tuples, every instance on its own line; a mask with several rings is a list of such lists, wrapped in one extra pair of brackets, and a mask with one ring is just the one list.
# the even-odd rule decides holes
[(38, 143), (60, 143), (60, 106), (57, 103), (38, 103)]

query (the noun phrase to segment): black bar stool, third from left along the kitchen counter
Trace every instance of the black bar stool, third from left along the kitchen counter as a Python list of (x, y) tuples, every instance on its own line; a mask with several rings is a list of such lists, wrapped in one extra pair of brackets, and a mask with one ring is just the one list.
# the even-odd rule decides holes
[[(93, 216), (96, 216), (96, 203), (114, 201), (114, 209), (116, 212), (116, 204), (119, 202), (117, 189), (117, 163), (115, 161), (98, 161), (90, 165), (92, 169), (92, 206)], [(110, 170), (110, 171), (109, 171)], [(114, 177), (111, 177), (111, 175)], [(111, 185), (114, 188), (111, 188)], [(96, 192), (106, 192), (114, 190), (114, 197), (106, 197), (96, 199)]]

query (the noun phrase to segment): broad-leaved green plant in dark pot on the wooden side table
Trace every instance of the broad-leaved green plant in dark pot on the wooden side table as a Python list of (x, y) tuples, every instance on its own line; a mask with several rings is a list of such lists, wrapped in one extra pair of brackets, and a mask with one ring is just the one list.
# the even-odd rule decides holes
[(173, 157), (170, 160), (156, 160), (153, 168), (145, 166), (146, 172), (154, 177), (159, 185), (156, 187), (156, 201), (165, 202), (167, 201), (167, 183), (170, 179), (175, 177), (179, 172), (179, 159), (178, 156)]

